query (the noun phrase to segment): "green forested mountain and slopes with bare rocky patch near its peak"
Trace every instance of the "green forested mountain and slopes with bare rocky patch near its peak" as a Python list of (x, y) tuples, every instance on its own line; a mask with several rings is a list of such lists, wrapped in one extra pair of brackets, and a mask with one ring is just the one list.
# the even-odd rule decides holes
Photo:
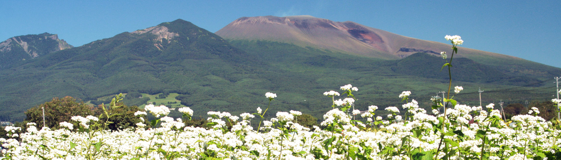
[[(499, 65), (454, 59), (453, 84), (466, 88), (454, 100), (467, 104), (479, 102), (475, 94), (479, 87), (485, 90), (484, 102), (547, 99), (544, 86), (551, 86), (551, 80), (544, 79), (551, 78), (534, 75), (561, 73), (558, 68), (541, 68), (526, 70), (534, 74), (511, 74)], [(440, 72), (442, 63), (433, 53), (387, 60), (270, 40), (225, 40), (176, 20), (0, 70), (0, 120), (22, 120), (25, 110), (53, 97), (89, 101), (131, 92), (178, 93), (176, 98), (191, 107), (195, 117), (206, 117), (208, 111), (252, 113), (265, 108), (264, 94), (273, 92), (278, 97), (265, 116), (298, 110), (321, 117), (332, 108), (331, 99), (321, 93), (345, 84), (360, 88), (353, 92), (360, 100), (359, 110), (402, 105), (397, 97), (402, 91), (412, 91), (410, 98), (430, 106), (429, 97), (448, 88), (447, 74)]]

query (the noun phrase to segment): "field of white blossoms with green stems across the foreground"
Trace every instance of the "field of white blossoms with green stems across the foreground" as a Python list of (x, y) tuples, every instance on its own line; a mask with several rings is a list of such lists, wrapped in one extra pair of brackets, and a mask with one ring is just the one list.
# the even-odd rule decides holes
[[(509, 125), (493, 104), (455, 105), (444, 114), (427, 112), (411, 100), (402, 106), (403, 116), (398, 107), (387, 107), (392, 114), (385, 117), (375, 115), (377, 106), (353, 110), (366, 119), (358, 121), (346, 113), (358, 89), (342, 90), (350, 98), (334, 100), (321, 128), (295, 123), (301, 113), (291, 111), (277, 112), (257, 131), (249, 122), (261, 116), (261, 109), (240, 116), (208, 112), (211, 127), (194, 128), (185, 126), (193, 113), (187, 107), (180, 110), (184, 119), (173, 119), (165, 116), (167, 107), (149, 105), (146, 111), (163, 116), (152, 122), (161, 121), (159, 128), (137, 124), (136, 129), (111, 131), (102, 129), (97, 117), (75, 116), (79, 125), (63, 122), (58, 130), (28, 124), (24, 133), (12, 134), (21, 129), (7, 127), (13, 138), (0, 141), (4, 159), (548, 159), (560, 152), (559, 126), (535, 116), (537, 110), (512, 117)], [(400, 97), (408, 101), (410, 94)]]

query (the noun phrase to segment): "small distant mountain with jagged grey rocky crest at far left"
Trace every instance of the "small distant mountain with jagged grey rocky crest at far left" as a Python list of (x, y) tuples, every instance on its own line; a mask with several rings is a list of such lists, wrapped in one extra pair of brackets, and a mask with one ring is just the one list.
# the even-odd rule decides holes
[(0, 69), (8, 68), (12, 64), (21, 63), (24, 60), (72, 47), (65, 40), (58, 39), (58, 35), (47, 32), (39, 35), (11, 37), (0, 43)]

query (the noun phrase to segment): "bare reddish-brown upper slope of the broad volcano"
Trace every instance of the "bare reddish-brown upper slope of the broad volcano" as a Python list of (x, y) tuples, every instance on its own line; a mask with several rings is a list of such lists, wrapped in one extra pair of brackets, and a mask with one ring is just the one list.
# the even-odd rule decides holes
[[(215, 34), (229, 40), (280, 41), (381, 59), (400, 59), (417, 52), (439, 55), (441, 51), (451, 51), (450, 44), (401, 36), (351, 21), (334, 22), (312, 16), (241, 17)], [(459, 48), (459, 52), (458, 57), (483, 62), (490, 62), (489, 57), (523, 60), (475, 49)]]

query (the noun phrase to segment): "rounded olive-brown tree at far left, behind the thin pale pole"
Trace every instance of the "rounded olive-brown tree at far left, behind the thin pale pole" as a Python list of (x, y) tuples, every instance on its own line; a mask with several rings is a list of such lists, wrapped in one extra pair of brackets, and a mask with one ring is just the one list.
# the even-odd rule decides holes
[(45, 126), (58, 129), (59, 123), (66, 121), (73, 123), (72, 116), (88, 116), (93, 112), (83, 101), (66, 96), (64, 98), (54, 97), (52, 101), (31, 107), (25, 111), (25, 123), (36, 123), (38, 128), (43, 126), (43, 108), (45, 109)]

